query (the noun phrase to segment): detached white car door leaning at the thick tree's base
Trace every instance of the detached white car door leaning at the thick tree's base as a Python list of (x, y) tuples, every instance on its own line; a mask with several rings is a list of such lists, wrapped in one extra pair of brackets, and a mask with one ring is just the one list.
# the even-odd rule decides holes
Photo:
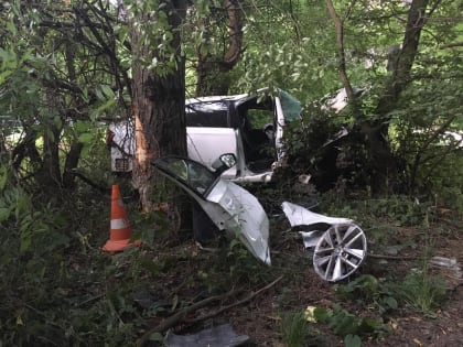
[(189, 193), (218, 229), (236, 235), (256, 258), (270, 264), (269, 220), (252, 194), (223, 180), (222, 172), (213, 172), (191, 159), (160, 158), (153, 165)]

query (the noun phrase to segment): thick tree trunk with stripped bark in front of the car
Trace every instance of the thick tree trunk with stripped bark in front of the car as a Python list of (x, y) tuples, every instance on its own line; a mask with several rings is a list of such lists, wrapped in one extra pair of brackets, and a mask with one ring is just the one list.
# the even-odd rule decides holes
[[(152, 169), (151, 162), (158, 156), (177, 154), (186, 156), (185, 129), (185, 83), (184, 59), (180, 50), (179, 26), (186, 11), (186, 1), (160, 1), (168, 19), (165, 30), (172, 32), (169, 56), (158, 51), (157, 40), (146, 45), (144, 39), (132, 28), (133, 65), (132, 105), (136, 120), (136, 160), (133, 184), (140, 194), (142, 212), (151, 210)], [(140, 14), (138, 24), (152, 20), (148, 14)], [(143, 24), (141, 24), (143, 25)], [(171, 56), (172, 55), (172, 56)], [(142, 61), (157, 58), (163, 64), (163, 74), (148, 68)], [(174, 61), (174, 65), (168, 65)]]

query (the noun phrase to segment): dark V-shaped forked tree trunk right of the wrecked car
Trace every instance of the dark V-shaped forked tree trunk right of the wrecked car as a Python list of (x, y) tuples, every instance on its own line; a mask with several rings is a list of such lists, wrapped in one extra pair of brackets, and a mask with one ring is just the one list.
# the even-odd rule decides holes
[[(343, 46), (343, 22), (338, 18), (333, 2), (326, 0), (330, 14), (336, 28), (336, 43), (340, 56), (340, 77), (346, 89), (347, 97), (353, 105), (353, 111), (356, 119), (356, 130), (360, 132), (364, 139), (367, 158), (364, 173), (368, 176), (367, 182), (373, 192), (381, 193), (389, 187), (389, 182), (394, 181), (399, 172), (399, 165), (392, 158), (388, 142), (390, 112), (397, 107), (400, 93), (410, 83), (411, 68), (418, 52), (418, 44), (421, 30), (426, 22), (426, 10), (429, 0), (413, 0), (407, 19), (407, 25), (403, 35), (402, 48), (400, 50), (396, 69), (392, 72), (386, 84), (381, 98), (376, 107), (376, 117), (372, 121), (366, 119), (360, 112), (359, 105), (356, 104), (355, 96), (346, 74)], [(437, 2), (437, 4), (439, 1)]]

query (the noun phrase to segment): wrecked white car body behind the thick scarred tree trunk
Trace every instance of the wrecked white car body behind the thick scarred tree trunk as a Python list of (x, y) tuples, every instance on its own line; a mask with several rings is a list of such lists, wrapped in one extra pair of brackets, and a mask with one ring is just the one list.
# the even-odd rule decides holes
[[(284, 124), (301, 117), (301, 102), (289, 93), (213, 96), (187, 99), (185, 120), (187, 156), (212, 169), (223, 153), (236, 165), (223, 173), (236, 182), (269, 182), (283, 163)], [(133, 127), (127, 121), (109, 127), (112, 172), (129, 172), (134, 153)]]

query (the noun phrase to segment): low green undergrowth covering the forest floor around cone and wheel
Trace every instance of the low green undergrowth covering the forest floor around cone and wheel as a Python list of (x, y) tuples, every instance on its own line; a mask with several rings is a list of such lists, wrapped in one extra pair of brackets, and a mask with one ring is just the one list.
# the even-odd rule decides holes
[[(279, 334), (287, 346), (321, 346), (321, 326), (341, 336), (346, 346), (358, 346), (364, 338), (380, 340), (389, 334), (390, 317), (406, 310), (435, 316), (448, 299), (443, 282), (429, 271), (433, 251), (429, 246), (416, 270), (403, 278), (362, 273), (333, 285), (343, 304), (319, 306), (317, 322), (311, 323), (292, 289), (311, 271), (308, 260), (284, 253), (286, 245), (300, 242), (295, 237), (278, 239), (271, 230), (278, 250), (272, 254), (273, 267), (267, 267), (234, 238), (214, 252), (194, 248), (192, 234), (182, 236), (185, 241), (173, 240), (179, 235), (169, 234), (162, 213), (139, 215), (129, 203), (133, 229), (143, 243), (109, 256), (100, 250), (109, 231), (109, 196), (82, 189), (53, 200), (2, 182), (0, 344), (4, 346), (130, 345), (152, 322), (161, 322), (193, 302), (233, 289), (254, 291), (279, 274), (284, 275), (284, 285), (276, 288), (273, 295), (281, 308)], [(277, 200), (276, 188), (267, 191), (267, 196), (266, 189), (259, 194), (269, 202), (273, 195)], [(432, 204), (403, 196), (347, 199), (332, 194), (323, 196), (317, 210), (355, 219), (376, 249), (389, 247), (394, 232), (402, 226), (418, 226), (428, 235), (438, 232), (429, 228), (439, 220)], [(365, 305), (370, 316), (352, 311)], [(286, 311), (287, 306), (292, 310)]]

